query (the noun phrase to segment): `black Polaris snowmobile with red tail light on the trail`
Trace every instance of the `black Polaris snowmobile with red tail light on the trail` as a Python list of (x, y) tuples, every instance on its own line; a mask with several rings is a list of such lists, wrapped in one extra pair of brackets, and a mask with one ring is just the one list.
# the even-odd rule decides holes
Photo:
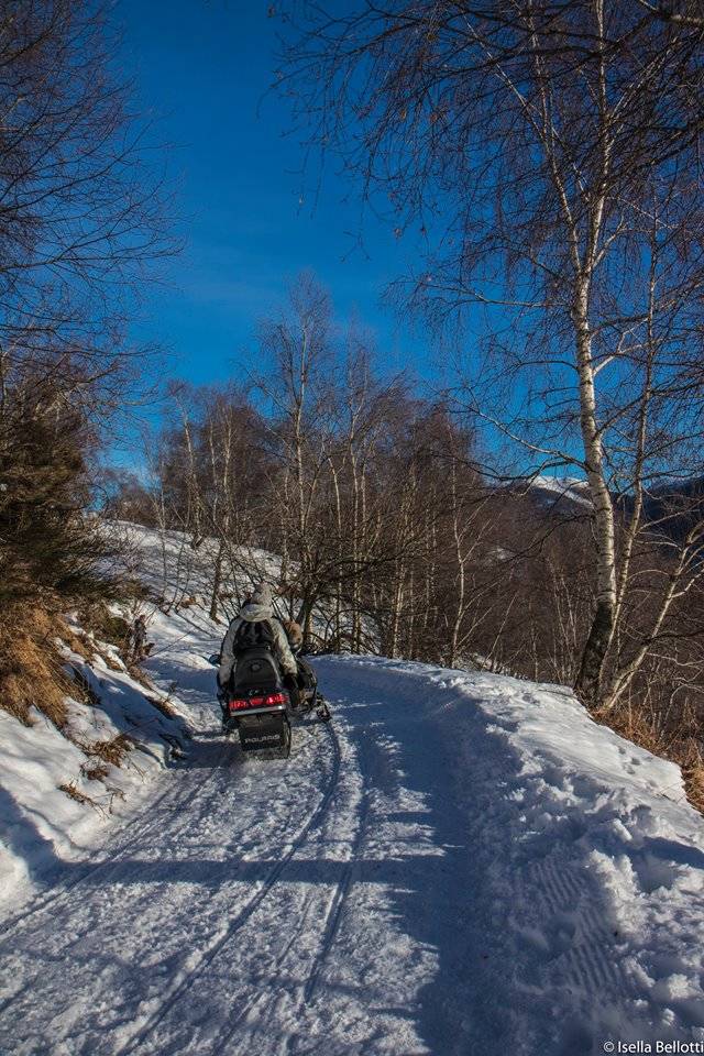
[(224, 696), (223, 729), (238, 732), (243, 751), (278, 750), (290, 755), (292, 721), (315, 710), (321, 722), (330, 711), (318, 692), (318, 679), (310, 664), (298, 660), (299, 702), (294, 707), (276, 657), (265, 647), (238, 656)]

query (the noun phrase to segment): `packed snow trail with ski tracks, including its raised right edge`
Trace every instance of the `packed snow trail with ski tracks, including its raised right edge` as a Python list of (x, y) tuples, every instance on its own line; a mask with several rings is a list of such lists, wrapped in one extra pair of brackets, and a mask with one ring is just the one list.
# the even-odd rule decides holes
[[(669, 800), (650, 816), (674, 768), (557, 691), (351, 657), (317, 664), (330, 726), (298, 728), (286, 762), (244, 759), (217, 734), (212, 632), (182, 623), (152, 667), (178, 683), (193, 750), (0, 933), (2, 1054), (579, 1056), (704, 1037), (702, 826)], [(526, 761), (516, 732), (546, 708), (558, 733), (566, 708), (573, 740), (584, 723), (598, 765), (575, 770), (566, 741)]]

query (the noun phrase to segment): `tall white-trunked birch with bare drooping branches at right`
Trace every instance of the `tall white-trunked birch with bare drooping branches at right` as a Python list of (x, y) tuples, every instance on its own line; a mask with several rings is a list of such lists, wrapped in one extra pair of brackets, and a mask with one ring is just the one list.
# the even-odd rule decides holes
[(311, 6), (299, 29), (282, 85), (314, 141), (437, 249), (411, 297), (483, 321), (482, 376), (530, 394), (474, 409), (534, 464), (588, 482), (595, 602), (575, 684), (609, 707), (700, 566), (694, 527), (624, 653), (636, 540), (656, 530), (644, 496), (701, 460), (704, 28), (608, 0), (383, 0)]

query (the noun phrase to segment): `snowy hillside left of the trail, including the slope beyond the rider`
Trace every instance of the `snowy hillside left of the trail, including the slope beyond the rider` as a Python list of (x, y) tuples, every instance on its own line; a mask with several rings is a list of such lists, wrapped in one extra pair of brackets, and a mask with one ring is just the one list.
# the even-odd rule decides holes
[[(185, 608), (180, 614), (174, 610), (167, 622), (172, 630), (188, 637), (193, 620), (199, 619), (199, 606), (209, 601), (217, 542), (206, 539), (194, 550), (183, 532), (161, 535), (124, 521), (111, 528), (130, 550), (128, 571), (163, 598), (166, 607), (196, 600), (190, 616)], [(278, 576), (278, 560), (265, 551), (242, 548), (238, 561), (237, 569), (223, 570), (224, 613), (253, 578)], [(150, 623), (153, 608), (148, 607)], [(80, 636), (80, 628), (68, 623)], [(221, 636), (211, 625), (206, 632)], [(0, 710), (0, 909), (33, 898), (36, 886), (61, 869), (64, 860), (80, 858), (103, 838), (106, 829), (129, 816), (135, 801), (148, 794), (151, 779), (170, 765), (188, 736), (173, 681), (161, 694), (175, 713), (169, 718), (145, 698), (145, 694), (160, 694), (129, 675), (113, 647), (100, 644), (90, 663), (65, 646), (62, 651), (95, 694), (95, 705), (67, 700), (69, 723), (63, 732), (36, 708), (30, 716), (32, 727)], [(84, 750), (121, 735), (135, 747), (120, 767)], [(107, 773), (101, 780), (91, 779), (98, 766)]]

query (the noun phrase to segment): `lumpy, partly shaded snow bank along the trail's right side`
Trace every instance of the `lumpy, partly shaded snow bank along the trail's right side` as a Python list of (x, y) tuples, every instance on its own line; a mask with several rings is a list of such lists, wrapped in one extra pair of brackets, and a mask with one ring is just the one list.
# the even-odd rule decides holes
[[(444, 788), (448, 816), (459, 806), (471, 827), (473, 864), (457, 856), (453, 869), (475, 888), (481, 957), (501, 966), (466, 971), (504, 1002), (510, 980), (513, 1007), (495, 1016), (513, 1020), (512, 1046), (520, 1036), (520, 1052), (566, 1056), (609, 1040), (704, 1043), (704, 821), (674, 763), (559, 686), (372, 658), (322, 668), (348, 697), (393, 694), (405, 776), (437, 752), (428, 792)], [(449, 846), (462, 846), (461, 824)]]

